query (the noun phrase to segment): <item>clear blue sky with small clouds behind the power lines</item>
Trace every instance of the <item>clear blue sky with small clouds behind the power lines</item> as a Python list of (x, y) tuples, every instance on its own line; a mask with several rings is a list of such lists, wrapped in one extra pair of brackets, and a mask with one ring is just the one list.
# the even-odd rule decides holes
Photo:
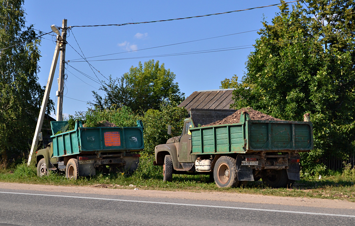
[[(68, 20), (68, 26), (122, 24), (129, 22), (144, 22), (181, 17), (206, 15), (233, 10), (247, 9), (279, 3), (278, 0), (255, 1), (25, 1), (27, 24), (34, 24), (34, 28), (49, 32), (50, 26), (62, 24), (62, 19)], [(237, 46), (253, 45), (259, 37), (256, 31), (236, 35), (239, 32), (260, 29), (261, 21), (266, 17), (271, 22), (277, 6), (254, 9), (243, 12), (233, 12), (200, 18), (191, 18), (167, 22), (132, 24), (126, 26), (108, 27), (75, 27), (67, 36), (67, 42), (81, 53), (74, 36), (86, 57), (120, 53), (106, 57), (91, 58), (91, 60), (104, 60), (115, 58), (145, 57), (153, 55), (174, 54), (182, 52), (214, 50), (232, 48)], [(185, 44), (140, 50), (150, 47), (176, 44), (186, 41), (212, 38)], [(54, 36), (45, 35), (40, 51), (39, 82), (47, 83), (51, 61), (55, 49)], [(231, 78), (236, 74), (239, 79), (245, 72), (247, 56), (253, 51), (252, 46), (245, 49), (200, 53), (191, 55), (147, 57), (140, 59), (126, 59), (113, 61), (90, 62), (105, 77), (112, 75), (121, 77), (129, 68), (137, 66), (149, 59), (159, 60), (176, 75), (175, 81), (179, 83), (180, 90), (189, 96), (193, 91), (218, 89), (220, 81)], [(236, 48), (232, 48), (236, 49)], [(66, 60), (81, 58), (69, 45), (66, 46)], [(97, 79), (87, 62), (69, 62), (69, 65), (81, 72)], [(90, 107), (85, 101), (92, 101), (92, 90), (98, 91), (100, 85), (68, 66), (66, 70), (63, 113), (74, 114), (76, 111), (86, 111)], [(56, 70), (50, 98), (56, 102), (55, 91), (58, 90)], [(105, 78), (96, 72), (100, 80)], [(75, 77), (76, 76), (76, 77)], [(83, 81), (81, 81), (80, 79)], [(87, 83), (87, 84), (86, 84)], [(70, 99), (75, 98), (77, 100)], [(82, 102), (84, 101), (84, 102)], [(52, 116), (54, 116), (52, 114)]]

